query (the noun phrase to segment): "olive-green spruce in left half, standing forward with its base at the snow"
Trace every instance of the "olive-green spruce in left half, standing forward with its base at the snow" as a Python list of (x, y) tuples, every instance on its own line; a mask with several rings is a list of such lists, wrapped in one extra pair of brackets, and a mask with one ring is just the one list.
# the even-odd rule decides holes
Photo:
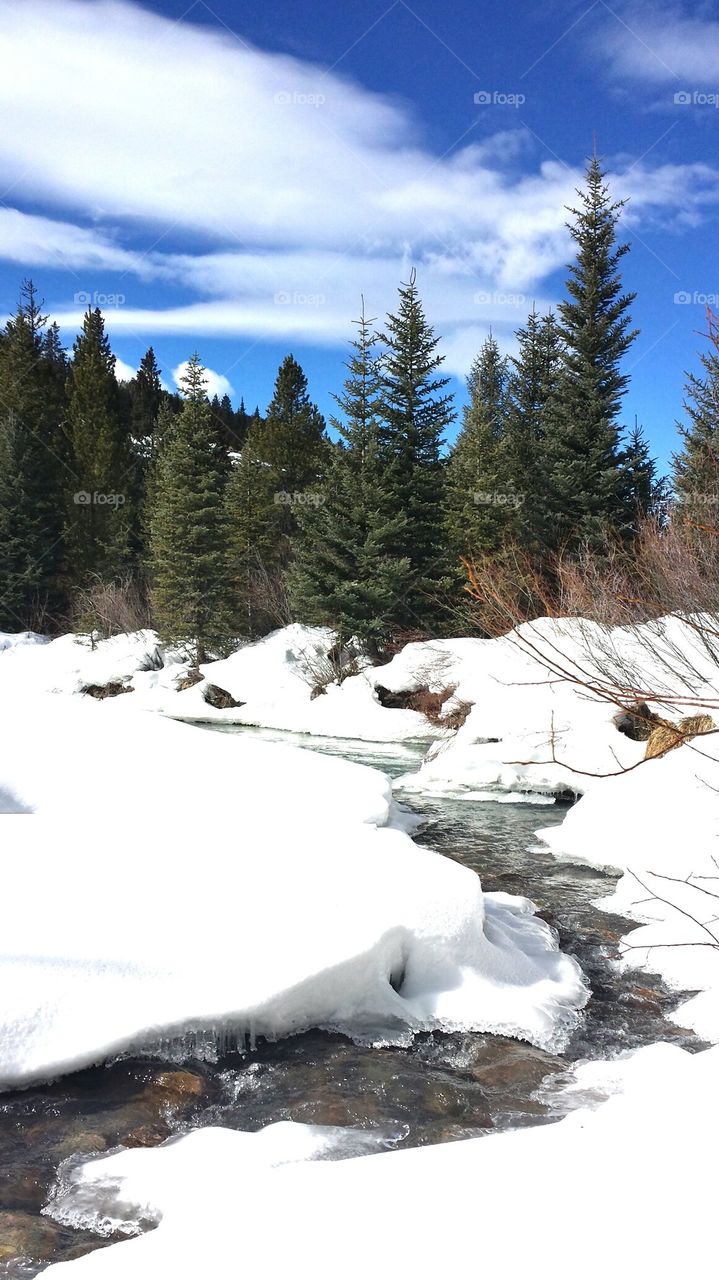
[(197, 663), (230, 634), (224, 490), (226, 465), (196, 353), (182, 379), (184, 407), (157, 460), (150, 517), (152, 599), (162, 636), (192, 644)]

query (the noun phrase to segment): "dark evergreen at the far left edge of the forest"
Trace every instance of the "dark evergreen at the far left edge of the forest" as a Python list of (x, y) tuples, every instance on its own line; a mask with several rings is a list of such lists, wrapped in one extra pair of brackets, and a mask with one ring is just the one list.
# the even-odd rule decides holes
[(60, 422), (64, 353), (31, 280), (0, 340), (0, 627), (58, 621), (63, 600), (63, 494), (74, 484)]

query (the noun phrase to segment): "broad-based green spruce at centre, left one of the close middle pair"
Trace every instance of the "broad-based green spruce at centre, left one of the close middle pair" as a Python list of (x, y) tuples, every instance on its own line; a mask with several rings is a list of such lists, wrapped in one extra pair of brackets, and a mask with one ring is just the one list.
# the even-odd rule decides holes
[(379, 366), (371, 320), (362, 314), (347, 362), (340, 417), (331, 425), (340, 444), (331, 451), (326, 480), (299, 508), (290, 598), (303, 622), (334, 627), (340, 640), (357, 636), (377, 650), (411, 584), (407, 558), (393, 547), (406, 536), (403, 512), (388, 509), (379, 449)]

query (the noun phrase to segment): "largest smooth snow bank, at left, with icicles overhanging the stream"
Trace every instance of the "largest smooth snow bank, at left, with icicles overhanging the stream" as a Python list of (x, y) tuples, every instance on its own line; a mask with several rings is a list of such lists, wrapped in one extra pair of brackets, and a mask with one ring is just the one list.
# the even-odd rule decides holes
[(581, 973), (531, 904), (383, 826), (374, 769), (129, 696), (8, 699), (3, 741), (4, 1087), (189, 1036), (574, 1025)]

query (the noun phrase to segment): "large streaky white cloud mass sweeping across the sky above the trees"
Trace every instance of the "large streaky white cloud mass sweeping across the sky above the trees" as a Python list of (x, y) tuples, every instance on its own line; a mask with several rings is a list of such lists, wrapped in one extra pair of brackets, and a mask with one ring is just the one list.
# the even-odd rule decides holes
[[(564, 206), (582, 175), (557, 160), (521, 173), (533, 145), (521, 128), (436, 159), (380, 95), (120, 0), (0, 4), (0, 110), (14, 122), (0, 180), (64, 219), (0, 211), (0, 255), (77, 273), (54, 307), (70, 328), (77, 293), (97, 284), (87, 276), (110, 271), (127, 293), (106, 308), (111, 334), (340, 344), (360, 293), (381, 319), (416, 264), (459, 365), (489, 324), (509, 335), (542, 306), (568, 260)], [(696, 221), (719, 201), (707, 165), (624, 168), (612, 182), (632, 197), (629, 224)], [(67, 221), (68, 209), (93, 225)], [(202, 250), (174, 252), (175, 237)], [(173, 288), (166, 302), (157, 289), (162, 305), (133, 305), (133, 279), (177, 285), (182, 303)]]

